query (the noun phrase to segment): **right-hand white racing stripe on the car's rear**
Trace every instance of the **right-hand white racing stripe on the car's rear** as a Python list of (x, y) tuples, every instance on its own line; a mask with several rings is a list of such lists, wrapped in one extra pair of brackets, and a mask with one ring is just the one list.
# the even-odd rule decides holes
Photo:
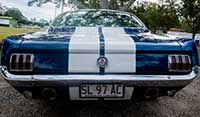
[(102, 28), (105, 40), (105, 57), (108, 65), (105, 73), (135, 73), (136, 46), (123, 28)]

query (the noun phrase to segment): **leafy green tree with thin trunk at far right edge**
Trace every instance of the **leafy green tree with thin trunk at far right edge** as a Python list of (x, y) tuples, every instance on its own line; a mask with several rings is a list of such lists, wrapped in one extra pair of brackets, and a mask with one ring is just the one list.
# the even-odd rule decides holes
[(200, 0), (182, 0), (180, 16), (192, 30), (192, 38), (200, 31)]

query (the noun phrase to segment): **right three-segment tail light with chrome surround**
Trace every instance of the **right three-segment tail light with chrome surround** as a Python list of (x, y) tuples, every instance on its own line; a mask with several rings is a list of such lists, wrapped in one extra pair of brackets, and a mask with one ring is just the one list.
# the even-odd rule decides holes
[(169, 55), (168, 68), (171, 72), (189, 72), (191, 59), (189, 55)]

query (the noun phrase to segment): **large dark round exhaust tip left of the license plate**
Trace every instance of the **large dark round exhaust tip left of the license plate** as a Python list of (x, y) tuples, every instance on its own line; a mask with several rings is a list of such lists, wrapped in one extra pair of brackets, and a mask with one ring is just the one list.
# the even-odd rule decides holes
[(44, 88), (42, 91), (42, 95), (49, 100), (55, 100), (57, 97), (55, 89), (52, 88)]

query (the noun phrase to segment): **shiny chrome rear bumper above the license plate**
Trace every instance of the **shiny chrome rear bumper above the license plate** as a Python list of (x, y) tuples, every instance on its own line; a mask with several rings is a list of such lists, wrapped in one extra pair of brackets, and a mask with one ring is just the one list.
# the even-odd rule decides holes
[(187, 75), (13, 75), (1, 67), (1, 75), (13, 86), (78, 86), (83, 83), (122, 83), (140, 87), (186, 86), (198, 75), (194, 67)]

